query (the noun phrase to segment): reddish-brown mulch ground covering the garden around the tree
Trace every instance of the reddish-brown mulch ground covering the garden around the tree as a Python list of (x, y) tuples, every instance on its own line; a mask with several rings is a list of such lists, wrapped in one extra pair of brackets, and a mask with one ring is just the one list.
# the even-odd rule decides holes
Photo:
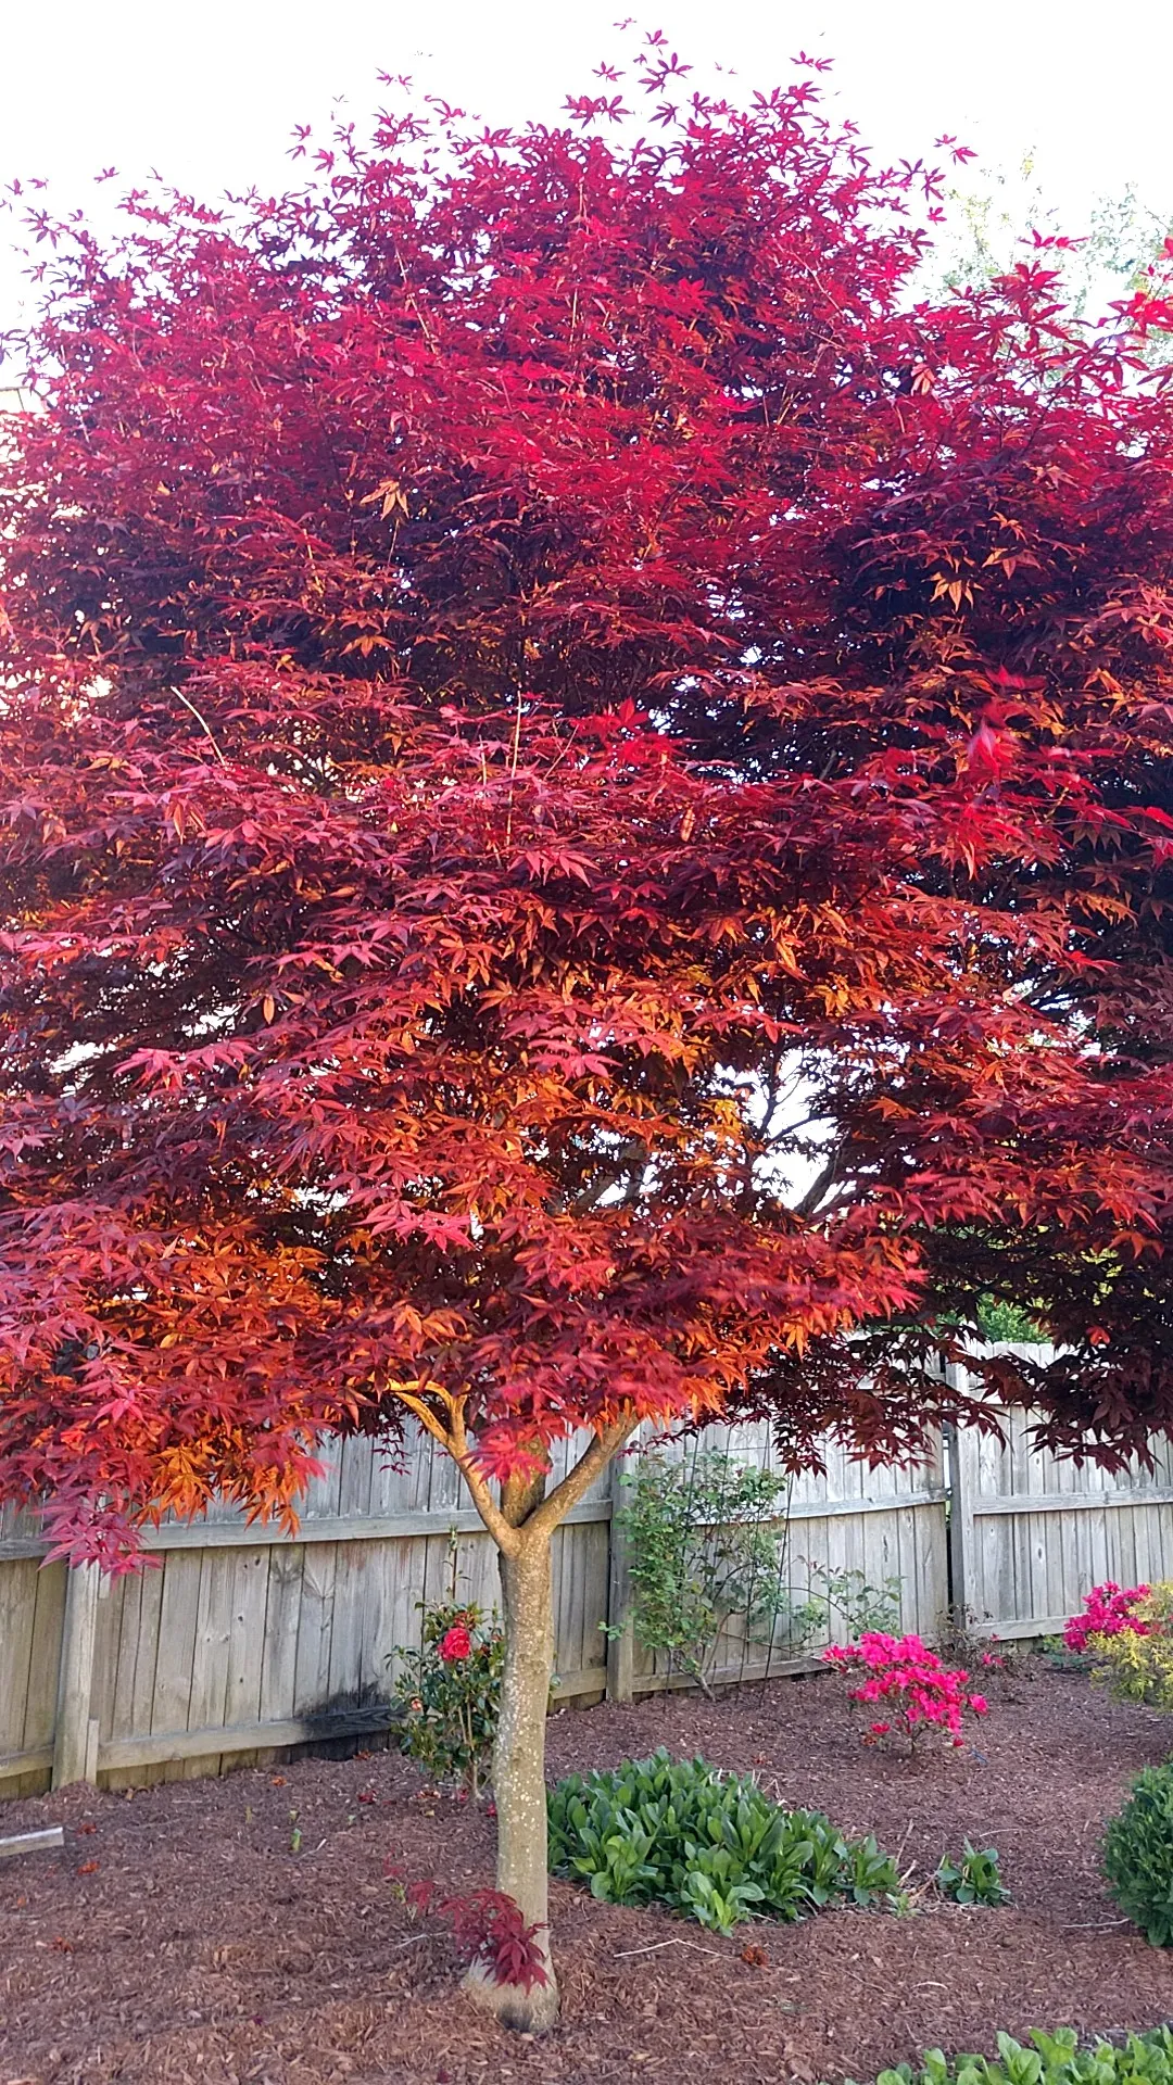
[(0, 2085), (693, 2085), (701, 2066), (804, 2085), (933, 2043), (991, 2047), (1000, 2027), (1158, 2025), (1173, 1960), (1119, 1920), (1098, 1837), (1169, 1751), (1169, 1722), (1029, 1672), (994, 1689), (977, 1753), (914, 1764), (860, 1745), (835, 1678), (557, 1716), (551, 1772), (703, 1751), (875, 1831), (914, 1881), (966, 1835), (996, 1843), (1014, 1904), (824, 1912), (722, 1941), (555, 1885), (564, 2018), (541, 2041), (459, 1997), (445, 1937), (413, 1929), (384, 1879), (390, 1856), (468, 1889), (493, 1860), (490, 1822), (394, 1753), (10, 1804), (4, 1831), (61, 1820), (67, 1851), (0, 1868)]

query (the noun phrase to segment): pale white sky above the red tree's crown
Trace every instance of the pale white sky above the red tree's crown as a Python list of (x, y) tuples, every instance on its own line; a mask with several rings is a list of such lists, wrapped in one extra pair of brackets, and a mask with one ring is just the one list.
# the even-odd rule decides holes
[[(933, 158), (950, 131), (991, 169), (1035, 154), (1062, 229), (1081, 231), (1096, 194), (1131, 183), (1173, 215), (1171, 0), (1090, 8), (1079, 0), (641, 0), (697, 69), (722, 63), (743, 88), (791, 77), (791, 56), (829, 56), (827, 98), (881, 158)], [(616, 0), (15, 0), (0, 13), (0, 181), (40, 175), (58, 206), (98, 221), (121, 183), (152, 167), (215, 200), (278, 188), (294, 123), (328, 127), (332, 102), (359, 123), (378, 106), (378, 71), (486, 121), (551, 121), (568, 92), (622, 40)], [(622, 58), (620, 58), (622, 63)], [(712, 77), (712, 73), (710, 73)], [(937, 154), (939, 156), (939, 154)], [(0, 219), (0, 325), (25, 290)]]

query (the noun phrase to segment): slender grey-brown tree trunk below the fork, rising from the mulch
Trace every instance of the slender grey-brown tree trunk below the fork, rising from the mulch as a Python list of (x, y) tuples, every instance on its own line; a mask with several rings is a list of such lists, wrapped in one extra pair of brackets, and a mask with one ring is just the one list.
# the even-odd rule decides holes
[(505, 1608), (505, 1670), (493, 1751), (497, 1804), (497, 1889), (513, 1897), (524, 1922), (536, 1924), (536, 1945), (549, 1983), (530, 1991), (501, 1985), (472, 1968), (465, 1989), (507, 2027), (541, 2031), (557, 2018), (557, 1983), (549, 1952), (549, 1870), (545, 1724), (553, 1672), (551, 1539), (543, 1528), (522, 1535), (516, 1555), (501, 1551)]

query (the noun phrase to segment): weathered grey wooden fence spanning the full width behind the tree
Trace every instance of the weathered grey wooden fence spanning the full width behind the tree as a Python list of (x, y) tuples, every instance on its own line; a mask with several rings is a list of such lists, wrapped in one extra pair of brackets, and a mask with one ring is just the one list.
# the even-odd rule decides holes
[[(900, 1578), (900, 1622), (929, 1641), (950, 1603), (979, 1630), (1014, 1637), (1058, 1628), (1104, 1576), (1173, 1576), (1169, 1449), (1156, 1476), (1106, 1478), (1035, 1453), (1027, 1424), (1008, 1412), (1002, 1443), (966, 1432), (912, 1470), (868, 1472), (831, 1447), (827, 1472), (789, 1491), (791, 1601), (808, 1599), (820, 1572), (854, 1570), (870, 1585)], [(764, 1428), (712, 1428), (703, 1445), (770, 1462)], [(612, 1470), (555, 1539), (561, 1701), (680, 1685), (632, 1645), (616, 1499)], [(346, 1441), (294, 1539), (225, 1510), (165, 1524), (146, 1547), (142, 1572), (67, 1572), (44, 1562), (31, 1516), (0, 1514), (0, 1795), (50, 1779), (188, 1779), (374, 1737), (390, 1722), (394, 1651), (420, 1641), (417, 1603), (499, 1597), (495, 1549), (459, 1472), (426, 1439), (403, 1468)], [(772, 1643), (731, 1624), (712, 1678), (808, 1664), (791, 1655), (785, 1624)]]

